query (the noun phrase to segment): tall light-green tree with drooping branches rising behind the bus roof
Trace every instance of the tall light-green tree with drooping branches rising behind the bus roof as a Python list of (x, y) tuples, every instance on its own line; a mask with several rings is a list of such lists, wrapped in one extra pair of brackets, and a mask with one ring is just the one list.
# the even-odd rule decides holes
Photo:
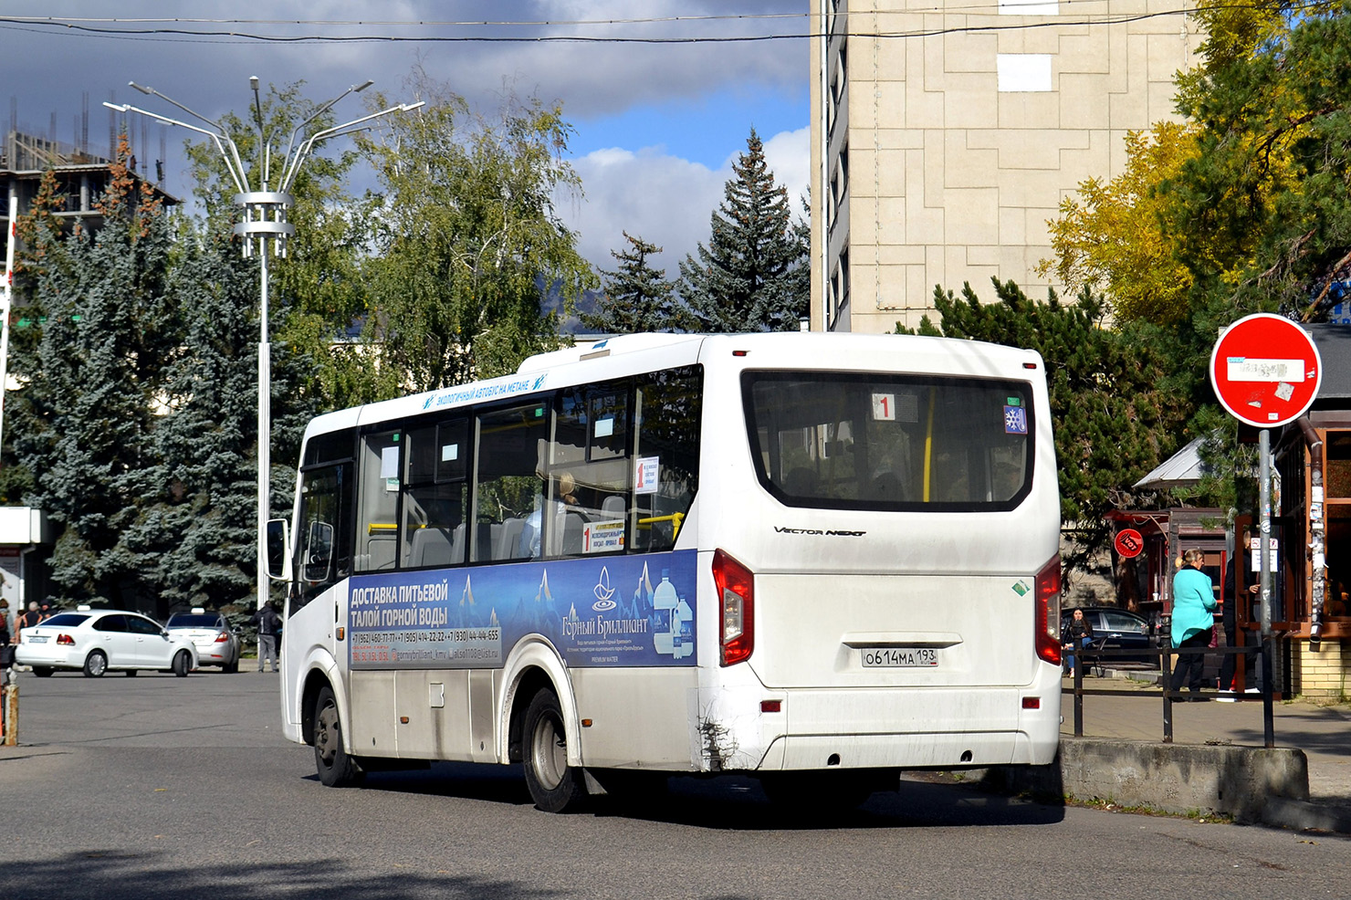
[(554, 207), (581, 189), (561, 108), (509, 99), (489, 120), (426, 76), (413, 86), (424, 108), (359, 139), (384, 186), (365, 215), (363, 399), (511, 372), (558, 343), (546, 288), (571, 304), (596, 286)]

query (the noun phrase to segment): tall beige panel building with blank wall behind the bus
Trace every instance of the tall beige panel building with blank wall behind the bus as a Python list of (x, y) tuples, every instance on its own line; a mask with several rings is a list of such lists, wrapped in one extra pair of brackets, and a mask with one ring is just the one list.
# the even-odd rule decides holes
[(938, 284), (1044, 297), (1047, 220), (1177, 118), (1201, 43), (1192, 0), (811, 1), (813, 331), (913, 327)]

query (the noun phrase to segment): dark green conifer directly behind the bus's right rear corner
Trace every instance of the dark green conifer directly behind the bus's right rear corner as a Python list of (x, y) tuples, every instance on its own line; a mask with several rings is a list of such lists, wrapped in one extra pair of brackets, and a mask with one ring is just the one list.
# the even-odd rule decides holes
[[(1065, 305), (1054, 292), (1034, 303), (1012, 281), (993, 281), (998, 303), (982, 304), (970, 285), (962, 296), (936, 288), (939, 326), (925, 316), (919, 332), (1028, 347), (1042, 354), (1051, 400), (1061, 516), (1082, 568), (1105, 547), (1108, 511), (1129, 504), (1131, 485), (1175, 450), (1188, 411), (1169, 389), (1167, 359), (1133, 335), (1102, 327), (1102, 300), (1084, 291)], [(897, 331), (904, 331), (898, 324)]]

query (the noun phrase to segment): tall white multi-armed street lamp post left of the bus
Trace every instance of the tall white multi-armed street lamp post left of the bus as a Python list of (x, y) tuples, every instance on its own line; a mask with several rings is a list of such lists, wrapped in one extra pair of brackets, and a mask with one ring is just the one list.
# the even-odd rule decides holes
[[(367, 116), (359, 119), (353, 119), (351, 122), (335, 126), (332, 128), (323, 128), (308, 138), (305, 138), (299, 147), (296, 147), (296, 138), (311, 122), (317, 119), (320, 115), (327, 112), (339, 100), (346, 97), (349, 93), (358, 93), (369, 88), (373, 81), (365, 81), (359, 85), (353, 85), (343, 91), (340, 95), (330, 100), (328, 103), (319, 107), (319, 109), (311, 115), (308, 119), (301, 122), (296, 130), (290, 134), (290, 143), (286, 146), (286, 153), (281, 158), (281, 178), (277, 184), (276, 191), (269, 189), (270, 170), (272, 170), (272, 147), (267, 143), (267, 136), (263, 130), (262, 122), (262, 103), (258, 97), (258, 78), (251, 77), (249, 80), (250, 88), (254, 92), (254, 114), (258, 126), (258, 191), (251, 191), (249, 185), (249, 170), (245, 168), (239, 158), (239, 147), (235, 145), (234, 139), (226, 131), (226, 127), (216, 120), (208, 119), (197, 112), (193, 112), (188, 107), (182, 105), (172, 97), (166, 97), (154, 88), (147, 88), (130, 81), (128, 85), (145, 93), (147, 96), (159, 97), (165, 103), (169, 103), (188, 115), (205, 122), (211, 128), (201, 128), (199, 126), (188, 124), (186, 122), (180, 122), (177, 119), (170, 119), (162, 116), (157, 112), (149, 112), (146, 109), (139, 109), (131, 104), (115, 104), (104, 103), (103, 105), (109, 109), (116, 109), (119, 112), (135, 112), (142, 116), (147, 116), (157, 122), (163, 122), (166, 124), (178, 126), (181, 128), (188, 128), (189, 131), (197, 131), (212, 139), (216, 145), (216, 150), (220, 151), (220, 158), (226, 164), (226, 170), (230, 173), (231, 181), (235, 185), (235, 203), (243, 208), (243, 220), (238, 222), (232, 231), (234, 234), (243, 238), (243, 254), (245, 257), (251, 257), (254, 253), (258, 254), (258, 268), (259, 268), (259, 330), (258, 330), (258, 607), (261, 608), (267, 601), (267, 519), (270, 518), (270, 504), (269, 504), (269, 488), (270, 488), (270, 465), (272, 465), (272, 345), (267, 341), (267, 277), (269, 255), (286, 255), (286, 241), (296, 234), (296, 226), (286, 220), (286, 209), (295, 203), (295, 197), (290, 193), (290, 188), (295, 184), (296, 174), (300, 172), (301, 164), (313, 151), (316, 143), (327, 141), (338, 135), (351, 134), (354, 131), (361, 131), (369, 127), (366, 123), (386, 116), (392, 112), (409, 112), (423, 105), (422, 101), (413, 104), (399, 104), (381, 109), (380, 112), (373, 112)], [(358, 127), (359, 126), (359, 127)], [(269, 242), (270, 253), (269, 253)]]

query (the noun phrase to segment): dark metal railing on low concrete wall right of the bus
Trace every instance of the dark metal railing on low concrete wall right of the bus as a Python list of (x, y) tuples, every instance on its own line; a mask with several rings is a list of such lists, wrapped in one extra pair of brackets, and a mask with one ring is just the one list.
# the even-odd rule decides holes
[[(1266, 747), (1275, 746), (1275, 720), (1274, 720), (1274, 707), (1271, 701), (1271, 641), (1263, 641), (1260, 645), (1254, 645), (1250, 647), (1132, 647), (1132, 649), (1102, 649), (1094, 650), (1092, 647), (1075, 647), (1073, 650), (1075, 657), (1074, 666), (1074, 686), (1063, 688), (1062, 693), (1069, 693), (1074, 696), (1074, 736), (1084, 736), (1084, 697), (1139, 697), (1139, 696), (1154, 696), (1163, 699), (1163, 743), (1173, 743), (1173, 704), (1185, 700), (1238, 700), (1238, 701), (1255, 701), (1262, 700), (1262, 719), (1263, 719), (1263, 739)], [(1259, 677), (1259, 691), (1256, 695), (1239, 692), (1239, 691), (1173, 691), (1169, 685), (1173, 682), (1173, 657), (1182, 654), (1213, 654), (1213, 655), (1243, 655), (1260, 659), (1260, 677)], [(1102, 668), (1105, 659), (1120, 658), (1120, 659), (1139, 659), (1140, 655), (1158, 655), (1159, 657), (1159, 673), (1162, 676), (1161, 686), (1158, 691), (1120, 691), (1108, 688), (1085, 688), (1084, 686), (1084, 669), (1089, 665), (1097, 665)]]

